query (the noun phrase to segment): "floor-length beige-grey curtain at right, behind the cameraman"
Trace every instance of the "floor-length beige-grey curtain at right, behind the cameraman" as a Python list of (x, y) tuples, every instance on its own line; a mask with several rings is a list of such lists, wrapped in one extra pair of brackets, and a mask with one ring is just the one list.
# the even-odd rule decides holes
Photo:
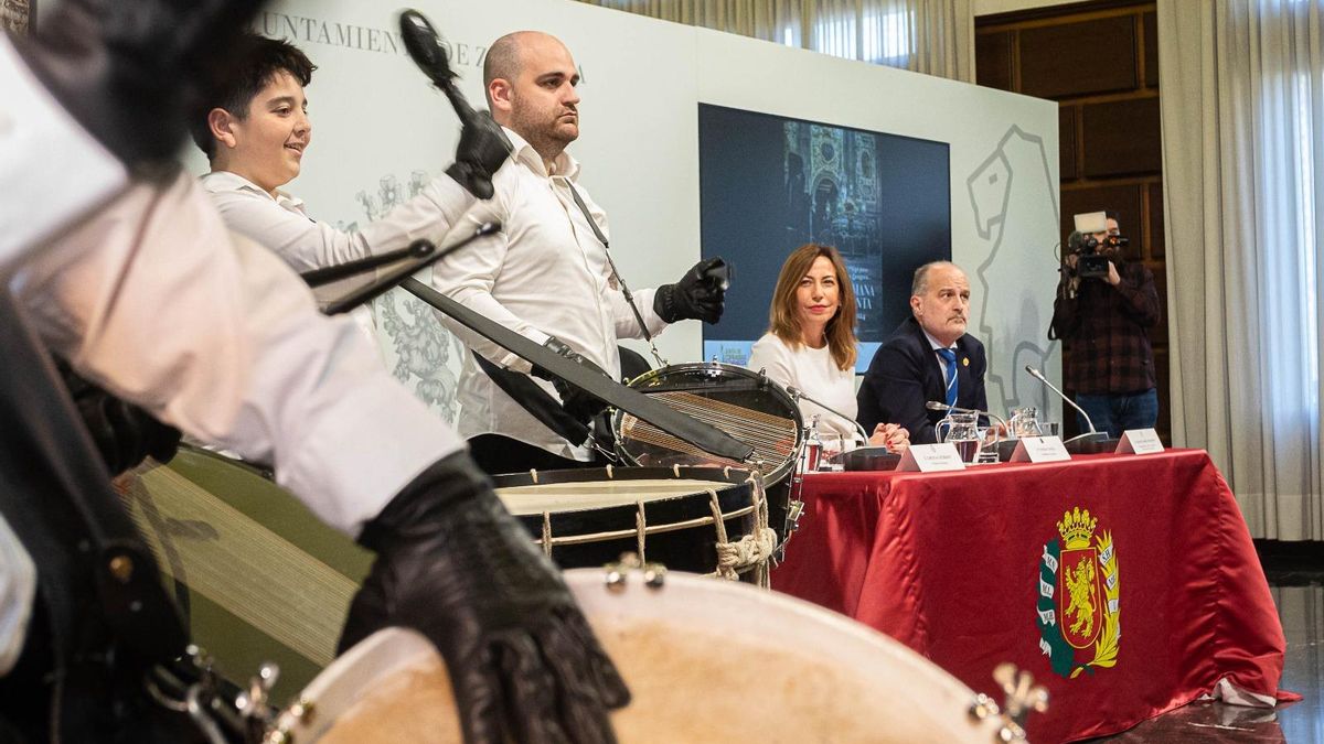
[(1324, 539), (1324, 0), (1158, 0), (1172, 429)]

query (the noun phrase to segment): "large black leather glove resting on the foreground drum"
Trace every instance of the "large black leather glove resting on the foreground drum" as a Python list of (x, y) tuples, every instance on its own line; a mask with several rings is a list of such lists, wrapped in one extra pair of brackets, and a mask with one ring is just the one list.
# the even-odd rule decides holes
[(346, 650), (389, 625), (446, 661), (469, 744), (614, 741), (630, 692), (575, 598), (465, 453), (441, 459), (364, 528), (377, 552)]

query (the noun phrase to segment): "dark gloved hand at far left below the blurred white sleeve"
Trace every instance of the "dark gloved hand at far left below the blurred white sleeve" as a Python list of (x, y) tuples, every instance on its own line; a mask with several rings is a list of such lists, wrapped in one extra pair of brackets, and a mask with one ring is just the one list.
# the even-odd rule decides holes
[(158, 462), (175, 457), (179, 429), (83, 380), (64, 361), (57, 360), (56, 367), (111, 475), (119, 475), (148, 455)]

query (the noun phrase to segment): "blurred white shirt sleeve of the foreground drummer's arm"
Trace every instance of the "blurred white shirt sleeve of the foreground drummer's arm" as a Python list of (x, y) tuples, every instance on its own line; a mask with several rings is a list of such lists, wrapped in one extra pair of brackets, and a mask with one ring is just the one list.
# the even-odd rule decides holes
[(197, 181), (135, 185), (17, 275), (42, 340), (184, 433), (271, 463), (356, 534), (463, 443), (347, 319), (320, 315), (270, 250), (229, 233)]

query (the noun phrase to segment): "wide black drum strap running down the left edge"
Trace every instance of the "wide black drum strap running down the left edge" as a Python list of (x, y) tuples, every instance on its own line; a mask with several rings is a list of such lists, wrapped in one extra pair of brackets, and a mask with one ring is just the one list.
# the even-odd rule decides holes
[[(5, 291), (0, 359), (0, 514), (37, 565), (54, 679), (86, 667), (86, 659), (179, 655), (188, 634), (156, 561), (111, 490), (49, 356)], [(107, 654), (107, 642), (120, 653)], [(64, 690), (56, 691), (60, 704), (75, 703)], [(81, 718), (65, 723), (87, 723)]]

